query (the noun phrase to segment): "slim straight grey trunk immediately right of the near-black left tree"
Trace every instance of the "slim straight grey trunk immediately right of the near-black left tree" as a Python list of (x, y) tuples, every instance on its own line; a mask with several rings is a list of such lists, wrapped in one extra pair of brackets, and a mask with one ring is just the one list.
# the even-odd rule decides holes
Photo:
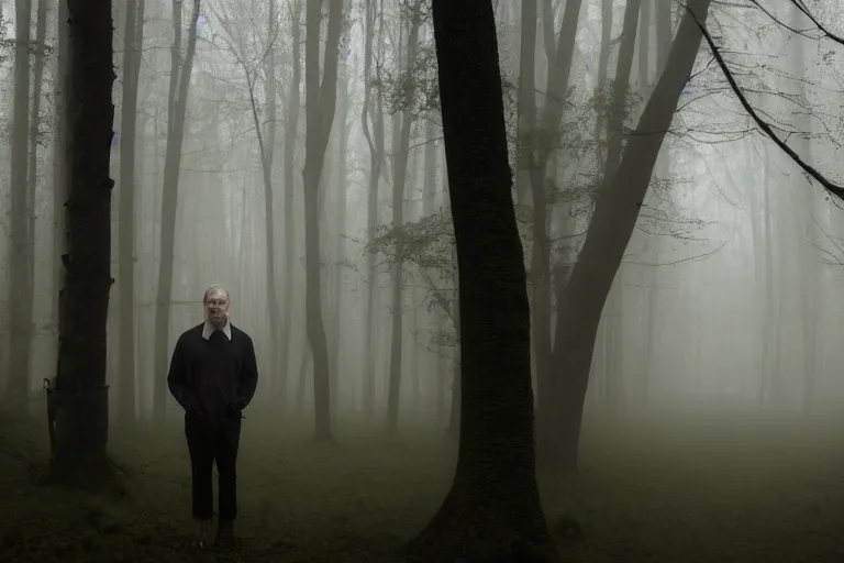
[(123, 108), (120, 118), (118, 247), (120, 284), (120, 382), (118, 416), (135, 419), (135, 141), (137, 86), (144, 37), (145, 0), (127, 0), (123, 52)]

